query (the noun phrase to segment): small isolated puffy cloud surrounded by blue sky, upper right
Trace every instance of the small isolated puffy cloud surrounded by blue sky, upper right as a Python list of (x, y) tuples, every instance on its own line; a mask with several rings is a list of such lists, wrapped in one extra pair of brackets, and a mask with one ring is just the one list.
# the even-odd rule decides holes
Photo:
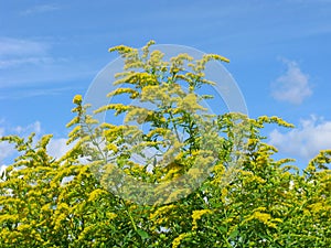
[(273, 97), (280, 101), (300, 105), (312, 94), (309, 75), (303, 74), (296, 62), (288, 60), (282, 62), (287, 71), (271, 84)]

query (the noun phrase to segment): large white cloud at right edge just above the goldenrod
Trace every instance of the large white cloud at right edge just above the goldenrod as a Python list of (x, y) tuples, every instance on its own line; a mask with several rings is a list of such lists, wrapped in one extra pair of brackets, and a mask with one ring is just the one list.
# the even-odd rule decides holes
[(311, 116), (302, 119), (298, 128), (286, 133), (275, 129), (270, 133), (270, 143), (279, 152), (310, 160), (320, 150), (331, 149), (331, 120)]

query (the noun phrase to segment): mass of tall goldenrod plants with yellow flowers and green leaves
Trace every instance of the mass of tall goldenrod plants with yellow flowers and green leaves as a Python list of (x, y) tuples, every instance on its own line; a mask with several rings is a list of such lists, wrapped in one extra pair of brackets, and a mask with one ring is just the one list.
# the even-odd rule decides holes
[[(289, 159), (274, 160), (277, 150), (260, 130), (291, 125), (202, 107), (209, 96), (196, 90), (214, 84), (204, 78), (206, 63), (227, 58), (180, 54), (164, 62), (152, 44), (142, 53), (109, 50), (125, 60), (115, 82), (125, 87), (108, 94), (152, 109), (109, 104), (96, 112), (113, 111), (125, 122), (98, 123), (76, 96), (67, 125), (74, 147), (58, 159), (47, 154), (52, 136), (1, 138), (20, 155), (0, 175), (0, 247), (328, 247), (331, 151), (302, 172)], [(183, 191), (169, 190), (179, 185)]]

